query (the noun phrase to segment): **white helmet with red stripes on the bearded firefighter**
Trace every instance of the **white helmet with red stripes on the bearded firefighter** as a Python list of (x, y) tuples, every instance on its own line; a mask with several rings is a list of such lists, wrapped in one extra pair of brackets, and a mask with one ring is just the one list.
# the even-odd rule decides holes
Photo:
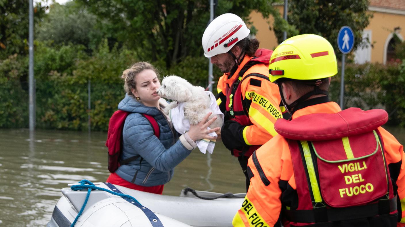
[(203, 34), (204, 55), (213, 57), (228, 52), (237, 42), (246, 38), (250, 30), (245, 22), (233, 13), (225, 13), (215, 18)]

